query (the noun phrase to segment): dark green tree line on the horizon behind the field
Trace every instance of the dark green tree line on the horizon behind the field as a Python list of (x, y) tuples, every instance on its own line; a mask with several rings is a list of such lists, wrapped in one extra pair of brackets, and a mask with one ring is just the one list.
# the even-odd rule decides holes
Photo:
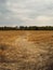
[(38, 27), (38, 26), (15, 26), (15, 27), (0, 27), (0, 30), (53, 30), (53, 26), (43, 26), (43, 27)]

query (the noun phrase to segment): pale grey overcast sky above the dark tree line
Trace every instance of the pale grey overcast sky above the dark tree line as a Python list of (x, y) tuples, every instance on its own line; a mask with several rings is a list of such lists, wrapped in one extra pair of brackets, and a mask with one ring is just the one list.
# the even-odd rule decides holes
[(0, 0), (0, 26), (53, 26), (53, 0)]

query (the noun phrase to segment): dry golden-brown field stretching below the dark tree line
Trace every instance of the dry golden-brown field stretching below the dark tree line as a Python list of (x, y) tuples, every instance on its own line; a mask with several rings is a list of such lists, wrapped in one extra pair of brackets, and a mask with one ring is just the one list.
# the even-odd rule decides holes
[(53, 70), (53, 31), (0, 31), (0, 70)]

